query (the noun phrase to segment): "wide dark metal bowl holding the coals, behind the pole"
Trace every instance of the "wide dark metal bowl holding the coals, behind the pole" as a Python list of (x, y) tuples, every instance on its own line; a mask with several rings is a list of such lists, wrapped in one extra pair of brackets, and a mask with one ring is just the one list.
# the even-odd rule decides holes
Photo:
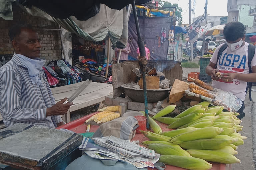
[[(121, 87), (124, 88), (125, 94), (133, 101), (144, 103), (143, 89), (130, 88), (125, 85), (121, 85)], [(148, 103), (155, 103), (166, 99), (169, 95), (169, 90), (171, 90), (171, 88), (147, 90)]]

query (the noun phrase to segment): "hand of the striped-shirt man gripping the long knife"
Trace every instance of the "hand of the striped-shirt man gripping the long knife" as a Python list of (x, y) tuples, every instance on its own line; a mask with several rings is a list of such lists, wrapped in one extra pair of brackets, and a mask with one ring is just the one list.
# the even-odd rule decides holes
[(67, 98), (62, 99), (61, 101), (59, 101), (58, 103), (56, 103), (52, 107), (47, 108), (46, 116), (55, 116), (55, 115), (64, 115), (64, 114), (66, 114), (68, 109), (70, 109), (70, 106), (73, 105), (73, 102), (63, 104), (66, 100), (67, 100)]

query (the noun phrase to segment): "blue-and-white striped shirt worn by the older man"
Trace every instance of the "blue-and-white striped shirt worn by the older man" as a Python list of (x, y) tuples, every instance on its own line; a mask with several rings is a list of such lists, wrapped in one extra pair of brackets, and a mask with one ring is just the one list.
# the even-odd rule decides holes
[[(0, 113), (6, 126), (16, 123), (55, 128), (46, 109), (55, 105), (55, 99), (43, 69), (40, 86), (32, 84), (28, 69), (14, 53), (12, 59), (0, 68)], [(55, 123), (62, 122), (60, 116), (52, 116)]]

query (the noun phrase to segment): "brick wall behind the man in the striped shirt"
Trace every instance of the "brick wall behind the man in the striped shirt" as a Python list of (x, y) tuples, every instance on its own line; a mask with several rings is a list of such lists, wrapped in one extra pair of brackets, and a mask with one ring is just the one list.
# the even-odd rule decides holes
[(61, 40), (59, 29), (56, 23), (50, 22), (44, 18), (33, 17), (24, 12), (18, 6), (13, 5), (13, 20), (8, 21), (0, 17), (0, 54), (13, 54), (14, 49), (8, 37), (9, 28), (14, 24), (26, 23), (37, 29), (41, 38), (41, 58), (47, 62), (61, 59)]

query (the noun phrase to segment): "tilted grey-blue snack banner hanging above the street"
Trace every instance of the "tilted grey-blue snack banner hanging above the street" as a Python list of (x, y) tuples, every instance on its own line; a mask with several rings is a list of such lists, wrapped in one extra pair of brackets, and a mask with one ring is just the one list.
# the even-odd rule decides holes
[(193, 42), (200, 38), (207, 30), (205, 16), (200, 16), (195, 22), (186, 28), (189, 39)]

